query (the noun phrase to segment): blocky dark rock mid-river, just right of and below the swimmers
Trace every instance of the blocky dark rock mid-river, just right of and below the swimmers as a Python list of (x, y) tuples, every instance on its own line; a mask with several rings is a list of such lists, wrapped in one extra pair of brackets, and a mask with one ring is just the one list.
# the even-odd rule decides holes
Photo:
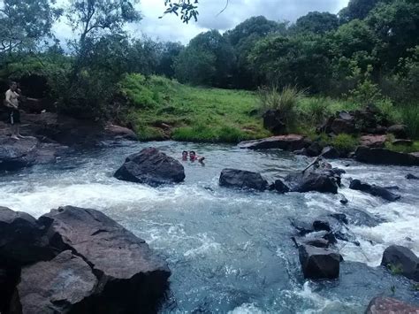
[(237, 169), (224, 169), (219, 184), (226, 188), (249, 188), (258, 191), (268, 188), (268, 181), (264, 180), (260, 173)]

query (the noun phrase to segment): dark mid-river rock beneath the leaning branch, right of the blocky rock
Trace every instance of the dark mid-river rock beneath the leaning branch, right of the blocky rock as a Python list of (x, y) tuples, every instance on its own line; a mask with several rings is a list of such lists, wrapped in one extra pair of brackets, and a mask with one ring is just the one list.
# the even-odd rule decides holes
[(286, 176), (286, 182), (290, 183), (292, 192), (338, 193), (338, 178), (328, 171), (291, 173)]

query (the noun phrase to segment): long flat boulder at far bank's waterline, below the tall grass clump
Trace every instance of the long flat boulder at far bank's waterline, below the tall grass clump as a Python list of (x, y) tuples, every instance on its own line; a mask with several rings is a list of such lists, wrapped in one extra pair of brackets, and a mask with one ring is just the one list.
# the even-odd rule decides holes
[(278, 135), (239, 143), (240, 149), (283, 149), (288, 151), (308, 148), (310, 145), (309, 139), (297, 134)]

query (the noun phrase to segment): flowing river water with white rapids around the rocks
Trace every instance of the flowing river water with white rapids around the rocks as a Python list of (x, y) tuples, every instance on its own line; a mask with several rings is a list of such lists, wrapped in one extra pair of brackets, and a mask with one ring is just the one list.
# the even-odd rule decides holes
[[(184, 149), (207, 158), (184, 162), (184, 183), (162, 188), (118, 181), (113, 172), (127, 155), (155, 146), (172, 157)], [(278, 195), (218, 187), (224, 168), (262, 172), (274, 180), (309, 164), (279, 150), (250, 151), (227, 145), (180, 142), (131, 143), (83, 151), (0, 177), (0, 205), (39, 217), (62, 205), (94, 208), (146, 240), (171, 268), (169, 313), (362, 313), (377, 295), (419, 303), (412, 283), (386, 272), (384, 249), (400, 244), (419, 254), (419, 184), (404, 179), (419, 168), (333, 162), (349, 178), (399, 186), (396, 203), (342, 188), (339, 195)], [(312, 282), (301, 275), (291, 218), (344, 212), (361, 245), (339, 241), (339, 280)], [(123, 267), (123, 265), (121, 265)]]

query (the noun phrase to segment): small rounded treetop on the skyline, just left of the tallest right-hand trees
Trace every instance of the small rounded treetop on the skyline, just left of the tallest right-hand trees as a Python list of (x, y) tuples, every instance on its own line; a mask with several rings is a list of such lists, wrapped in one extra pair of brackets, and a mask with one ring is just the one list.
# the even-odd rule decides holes
[(339, 18), (329, 12), (309, 12), (297, 19), (294, 28), (296, 32), (311, 32), (324, 34), (339, 27)]

